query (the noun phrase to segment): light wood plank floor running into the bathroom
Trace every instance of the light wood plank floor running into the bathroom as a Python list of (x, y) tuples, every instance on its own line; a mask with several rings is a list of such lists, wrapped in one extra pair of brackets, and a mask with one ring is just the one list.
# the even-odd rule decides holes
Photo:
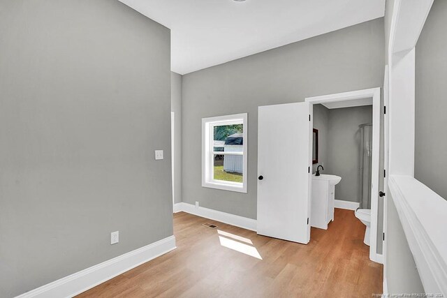
[(343, 209), (328, 230), (312, 228), (307, 245), (180, 212), (177, 249), (79, 297), (372, 297), (382, 292), (383, 270), (369, 260), (364, 233)]

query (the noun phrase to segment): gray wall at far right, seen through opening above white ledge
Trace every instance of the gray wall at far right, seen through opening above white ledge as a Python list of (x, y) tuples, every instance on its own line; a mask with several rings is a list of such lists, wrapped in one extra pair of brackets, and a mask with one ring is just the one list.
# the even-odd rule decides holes
[(416, 45), (415, 177), (447, 200), (447, 1), (435, 0)]

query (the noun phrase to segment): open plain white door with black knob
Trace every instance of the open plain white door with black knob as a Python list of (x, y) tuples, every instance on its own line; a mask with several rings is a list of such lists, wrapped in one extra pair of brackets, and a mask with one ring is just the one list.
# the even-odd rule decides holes
[(309, 103), (258, 107), (258, 234), (310, 239)]

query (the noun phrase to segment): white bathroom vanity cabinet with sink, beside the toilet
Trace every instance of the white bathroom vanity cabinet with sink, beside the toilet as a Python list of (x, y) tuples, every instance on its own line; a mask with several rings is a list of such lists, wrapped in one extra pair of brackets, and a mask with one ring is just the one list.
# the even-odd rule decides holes
[(335, 185), (341, 179), (327, 174), (312, 176), (312, 227), (328, 230), (328, 223), (334, 220)]

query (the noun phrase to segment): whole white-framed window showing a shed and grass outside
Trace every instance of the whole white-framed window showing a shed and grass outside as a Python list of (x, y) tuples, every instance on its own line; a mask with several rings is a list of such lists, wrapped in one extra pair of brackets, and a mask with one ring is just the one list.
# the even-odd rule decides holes
[(202, 186), (247, 193), (247, 114), (202, 119)]

